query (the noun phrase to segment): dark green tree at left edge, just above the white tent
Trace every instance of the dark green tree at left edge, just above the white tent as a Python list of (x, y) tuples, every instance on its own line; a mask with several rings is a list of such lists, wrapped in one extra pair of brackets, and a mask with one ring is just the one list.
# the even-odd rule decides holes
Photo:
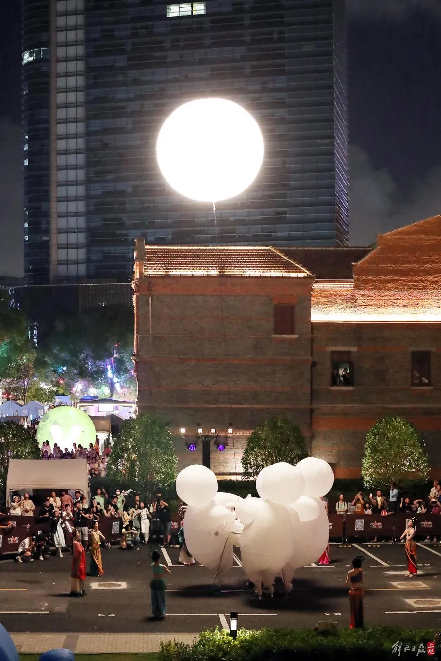
[(6, 487), (10, 459), (40, 459), (35, 436), (17, 422), (0, 422), (0, 487)]

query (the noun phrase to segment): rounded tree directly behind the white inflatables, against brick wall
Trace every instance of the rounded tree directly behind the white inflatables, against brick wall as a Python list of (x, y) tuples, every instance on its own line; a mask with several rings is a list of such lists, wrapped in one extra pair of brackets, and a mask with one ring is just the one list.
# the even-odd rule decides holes
[(262, 468), (278, 461), (295, 465), (307, 457), (300, 427), (274, 416), (259, 424), (248, 439), (242, 457), (243, 479), (255, 479)]

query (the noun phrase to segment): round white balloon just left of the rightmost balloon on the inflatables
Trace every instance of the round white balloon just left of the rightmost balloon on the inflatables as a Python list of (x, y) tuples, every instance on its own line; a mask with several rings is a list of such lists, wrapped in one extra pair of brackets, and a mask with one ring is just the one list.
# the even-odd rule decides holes
[(305, 481), (294, 466), (280, 461), (262, 468), (257, 476), (256, 488), (263, 500), (288, 505), (303, 494)]

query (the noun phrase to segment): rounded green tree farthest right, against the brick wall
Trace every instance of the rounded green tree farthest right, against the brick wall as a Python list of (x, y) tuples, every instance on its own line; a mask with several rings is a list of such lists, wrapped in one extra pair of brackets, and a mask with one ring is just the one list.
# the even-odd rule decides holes
[(424, 443), (404, 418), (383, 418), (368, 431), (362, 459), (366, 486), (389, 485), (410, 477), (426, 480), (428, 470)]

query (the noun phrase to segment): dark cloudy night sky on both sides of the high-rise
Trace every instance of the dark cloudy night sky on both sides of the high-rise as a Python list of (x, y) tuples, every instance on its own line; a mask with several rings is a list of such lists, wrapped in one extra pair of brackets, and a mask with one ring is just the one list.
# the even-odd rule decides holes
[[(350, 243), (441, 214), (441, 1), (346, 0)], [(0, 274), (22, 273), (20, 1), (0, 1)]]

